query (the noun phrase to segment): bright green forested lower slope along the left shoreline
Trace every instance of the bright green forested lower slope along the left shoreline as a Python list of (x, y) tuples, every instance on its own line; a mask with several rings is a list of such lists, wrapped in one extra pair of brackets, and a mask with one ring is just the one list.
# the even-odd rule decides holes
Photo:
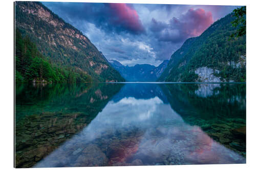
[(30, 41), (15, 31), (15, 81), (24, 82), (90, 82), (91, 76), (71, 67), (50, 63)]

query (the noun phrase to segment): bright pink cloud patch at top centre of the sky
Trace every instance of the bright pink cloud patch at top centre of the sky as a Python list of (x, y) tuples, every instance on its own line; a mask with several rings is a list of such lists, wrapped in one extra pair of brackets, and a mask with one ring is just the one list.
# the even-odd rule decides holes
[(131, 32), (142, 33), (144, 27), (139, 19), (139, 15), (135, 9), (126, 4), (110, 4), (113, 17), (111, 21), (115, 25), (119, 25)]

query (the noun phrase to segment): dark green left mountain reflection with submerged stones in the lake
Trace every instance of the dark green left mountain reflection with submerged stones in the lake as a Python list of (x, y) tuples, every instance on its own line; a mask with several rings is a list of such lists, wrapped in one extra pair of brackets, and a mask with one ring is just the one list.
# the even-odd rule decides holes
[(15, 165), (31, 167), (87, 126), (122, 85), (16, 87)]

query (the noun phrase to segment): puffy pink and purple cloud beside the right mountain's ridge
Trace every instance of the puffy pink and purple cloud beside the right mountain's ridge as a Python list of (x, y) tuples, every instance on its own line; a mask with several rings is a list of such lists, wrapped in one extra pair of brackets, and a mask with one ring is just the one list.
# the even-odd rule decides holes
[(203, 9), (189, 9), (179, 18), (173, 17), (169, 23), (156, 21), (151, 22), (151, 30), (156, 33), (160, 41), (181, 42), (189, 37), (201, 35), (212, 23), (211, 12)]

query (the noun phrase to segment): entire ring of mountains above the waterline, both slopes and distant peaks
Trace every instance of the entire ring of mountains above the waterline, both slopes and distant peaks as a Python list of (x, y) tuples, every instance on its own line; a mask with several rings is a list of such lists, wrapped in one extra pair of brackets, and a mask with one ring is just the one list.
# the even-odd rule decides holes
[(39, 2), (15, 2), (16, 82), (245, 82), (246, 35), (233, 13), (188, 38), (159, 66), (108, 61), (90, 39)]

